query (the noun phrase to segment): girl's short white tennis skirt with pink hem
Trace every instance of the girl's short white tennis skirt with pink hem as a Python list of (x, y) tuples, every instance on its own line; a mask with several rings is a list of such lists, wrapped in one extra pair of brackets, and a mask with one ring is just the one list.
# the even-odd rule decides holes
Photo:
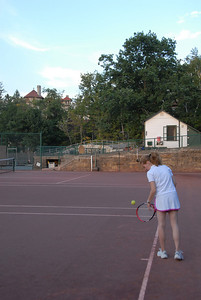
[(179, 210), (180, 202), (176, 191), (157, 195), (155, 208), (159, 211)]

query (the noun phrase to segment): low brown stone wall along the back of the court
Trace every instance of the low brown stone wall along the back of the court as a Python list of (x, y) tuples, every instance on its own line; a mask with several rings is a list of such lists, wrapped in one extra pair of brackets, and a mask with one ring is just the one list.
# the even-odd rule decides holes
[[(141, 151), (141, 155), (147, 154)], [(201, 149), (166, 150), (160, 153), (163, 164), (174, 172), (201, 172)], [(97, 166), (97, 168), (95, 168)], [(93, 169), (105, 172), (140, 172), (142, 166), (137, 162), (136, 153), (117, 153), (93, 156)], [(62, 158), (58, 170), (91, 171), (91, 157), (87, 155)]]

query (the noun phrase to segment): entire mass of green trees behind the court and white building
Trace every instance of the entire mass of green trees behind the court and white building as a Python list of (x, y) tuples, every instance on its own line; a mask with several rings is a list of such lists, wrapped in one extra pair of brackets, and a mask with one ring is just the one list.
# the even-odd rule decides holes
[(27, 105), (18, 91), (4, 96), (0, 83), (0, 131), (43, 132), (44, 145), (142, 138), (144, 121), (162, 109), (201, 130), (201, 56), (194, 48), (182, 62), (175, 48), (151, 31), (134, 33), (118, 55), (101, 55), (101, 73), (81, 74), (68, 111), (56, 89)]

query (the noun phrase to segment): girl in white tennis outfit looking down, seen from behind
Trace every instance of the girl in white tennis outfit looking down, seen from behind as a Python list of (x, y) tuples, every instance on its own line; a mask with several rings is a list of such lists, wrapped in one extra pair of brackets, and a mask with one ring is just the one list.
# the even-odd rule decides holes
[(165, 226), (166, 214), (169, 213), (172, 235), (175, 243), (176, 260), (183, 260), (182, 251), (179, 249), (179, 227), (178, 210), (180, 203), (176, 191), (176, 181), (172, 171), (166, 165), (162, 165), (161, 158), (157, 152), (144, 155), (141, 158), (141, 164), (147, 171), (147, 179), (150, 183), (150, 193), (147, 200), (149, 206), (155, 196), (155, 209), (157, 210), (158, 234), (161, 248), (157, 256), (167, 258), (165, 250)]

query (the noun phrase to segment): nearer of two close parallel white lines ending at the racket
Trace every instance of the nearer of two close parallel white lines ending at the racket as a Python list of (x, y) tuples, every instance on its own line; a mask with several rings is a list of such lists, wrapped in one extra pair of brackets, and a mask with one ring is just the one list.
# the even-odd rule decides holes
[(135, 215), (100, 215), (100, 214), (65, 214), (65, 213), (28, 213), (28, 212), (0, 212), (0, 215), (43, 215), (43, 216), (84, 216), (84, 217), (122, 217), (135, 218)]

